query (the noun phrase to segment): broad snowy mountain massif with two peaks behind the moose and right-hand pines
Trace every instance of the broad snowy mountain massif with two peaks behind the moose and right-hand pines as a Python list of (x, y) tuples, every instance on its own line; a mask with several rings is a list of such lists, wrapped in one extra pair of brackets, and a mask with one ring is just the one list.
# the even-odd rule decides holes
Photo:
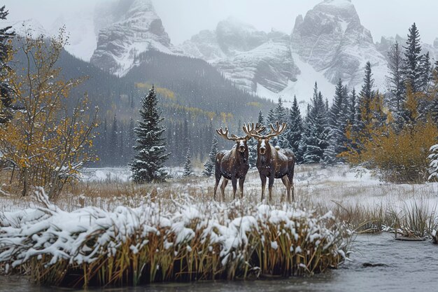
[(202, 31), (185, 41), (184, 53), (211, 62), (227, 78), (257, 94), (309, 100), (315, 81), (332, 97), (341, 78), (360, 87), (367, 61), (376, 86), (383, 86), (386, 57), (360, 23), (350, 0), (325, 0), (299, 15), (290, 36), (266, 34), (227, 19), (215, 31)]

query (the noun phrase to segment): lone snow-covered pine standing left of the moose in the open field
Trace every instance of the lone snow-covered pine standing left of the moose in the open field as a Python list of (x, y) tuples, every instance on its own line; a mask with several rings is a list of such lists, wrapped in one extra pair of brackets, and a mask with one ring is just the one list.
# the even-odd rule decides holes
[(134, 129), (137, 137), (134, 146), (136, 154), (129, 164), (132, 179), (136, 183), (164, 181), (167, 177), (164, 162), (169, 157), (169, 153), (166, 153), (166, 141), (162, 137), (164, 128), (160, 123), (163, 118), (160, 117), (154, 86), (149, 90), (148, 95), (141, 99), (140, 116), (139, 125)]

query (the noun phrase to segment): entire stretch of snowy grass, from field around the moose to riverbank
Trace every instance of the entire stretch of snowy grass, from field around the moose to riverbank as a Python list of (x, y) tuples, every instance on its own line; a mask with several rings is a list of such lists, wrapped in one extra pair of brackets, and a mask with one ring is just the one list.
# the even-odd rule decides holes
[[(281, 197), (285, 195), (285, 187), (280, 180), (276, 180), (274, 200), (268, 205), (267, 202), (260, 202), (261, 186), (256, 169), (248, 172), (243, 200), (234, 202), (232, 202), (230, 184), (226, 189), (226, 202), (213, 202), (213, 177), (175, 178), (169, 179), (166, 183), (138, 186), (125, 181), (125, 179), (120, 179), (127, 177), (127, 172), (129, 172), (127, 169), (95, 169), (92, 172), (94, 174), (90, 174), (88, 179), (72, 188), (66, 188), (56, 202), (57, 207), (34, 202), (30, 197), (23, 198), (13, 195), (6, 185), (1, 186), (0, 225), (2, 227), (0, 228), (0, 237), (3, 238), (1, 241), (3, 245), (0, 252), (3, 260), (10, 260), (9, 267), (12, 267), (12, 263), (20, 264), (20, 261), (28, 256), (27, 265), (35, 265), (32, 270), (36, 269), (37, 272), (34, 274), (34, 279), (40, 279), (46, 283), (55, 283), (54, 279), (70, 281), (71, 278), (64, 278), (65, 274), (60, 274), (57, 271), (74, 270), (74, 273), (80, 274), (78, 278), (75, 278), (79, 285), (83, 284), (83, 281), (90, 284), (107, 281), (111, 281), (113, 284), (128, 282), (136, 284), (137, 280), (134, 281), (134, 279), (137, 278), (134, 277), (134, 272), (137, 276), (139, 275), (140, 256), (137, 257), (137, 255), (140, 254), (143, 256), (141, 263), (146, 263), (144, 260), (149, 260), (143, 269), (146, 267), (150, 269), (146, 277), (141, 277), (141, 281), (241, 277), (242, 272), (246, 273), (248, 277), (266, 272), (276, 274), (280, 267), (284, 268), (283, 265), (287, 265), (286, 271), (290, 274), (302, 273), (306, 269), (311, 270), (311, 266), (308, 265), (309, 261), (304, 264), (306, 267), (298, 265), (298, 270), (294, 270), (295, 267), (292, 267), (292, 263), (296, 262), (290, 261), (290, 258), (287, 259), (287, 257), (295, 256), (297, 250), (305, 251), (299, 254), (306, 256), (307, 251), (311, 250), (312, 254), (315, 249), (310, 246), (303, 249), (305, 244), (303, 246), (302, 242), (298, 249), (294, 249), (294, 252), (285, 253), (288, 250), (285, 246), (292, 246), (292, 244), (297, 246), (297, 242), (290, 241), (292, 235), (295, 238), (295, 233), (292, 234), (292, 225), (285, 225), (286, 222), (288, 224), (295, 222), (296, 224), (298, 221), (309, 221), (313, 222), (311, 224), (316, 224), (315, 222), (322, 220), (321, 222), (325, 223), (318, 225), (319, 230), (332, 232), (332, 235), (340, 235), (339, 232), (336, 233), (337, 231), (332, 229), (334, 228), (332, 224), (336, 223), (338, 226), (342, 225), (356, 232), (388, 230), (396, 232), (398, 236), (421, 238), (427, 236), (437, 240), (438, 183), (385, 183), (374, 179), (365, 169), (351, 169), (346, 165), (336, 167), (299, 165), (296, 167), (294, 179), (296, 204), (289, 205), (281, 202)], [(174, 172), (178, 171), (174, 170)], [(101, 175), (102, 173), (104, 175)], [(93, 176), (103, 179), (94, 179)], [(307, 211), (310, 209), (314, 212)], [(193, 214), (197, 215), (192, 216)], [(274, 214), (282, 214), (281, 218), (284, 219), (282, 219), (284, 222), (273, 221), (271, 218), (274, 218)], [(296, 214), (301, 215), (299, 218), (295, 218)], [(328, 216), (330, 218), (325, 217), (324, 214), (333, 214), (335, 219), (331, 215)], [(247, 223), (238, 226), (236, 218)], [(166, 221), (167, 225), (160, 225), (161, 220)], [(330, 224), (327, 224), (329, 222)], [(176, 228), (175, 224), (180, 224), (177, 225), (180, 229)], [(216, 229), (211, 227), (213, 225), (216, 226)], [(299, 226), (303, 225), (305, 224), (299, 223)], [(250, 233), (251, 235), (248, 236), (245, 233), (248, 231), (248, 226), (254, 228), (250, 232), (256, 233)], [(158, 230), (160, 234), (147, 230), (154, 232)], [(206, 237), (206, 230), (209, 230), (208, 232), (214, 235), (214, 238)], [(211, 233), (213, 231), (214, 234)], [(30, 235), (29, 232), (35, 233)], [(179, 246), (173, 244), (170, 248), (167, 245), (169, 240), (175, 242), (179, 232), (194, 234), (195, 237), (192, 240), (195, 241), (190, 244), (184, 242), (183, 245)], [(297, 232), (297, 225), (295, 225), (293, 232)], [(243, 233), (246, 235), (243, 236)], [(155, 260), (159, 260), (155, 258), (155, 253), (154, 256), (146, 259), (146, 251), (139, 249), (146, 235), (148, 236), (146, 240), (149, 242), (154, 240), (155, 244), (162, 244), (157, 249), (144, 247), (149, 251), (158, 250), (156, 254), (167, 259), (165, 263), (157, 264), (158, 270), (153, 268), (156, 267)], [(168, 239), (167, 242), (164, 241), (164, 235)], [(271, 239), (267, 240), (269, 236)], [(120, 238), (125, 239), (125, 241), (120, 241)], [(222, 241), (218, 238), (221, 238)], [(336, 238), (341, 240), (340, 237)], [(284, 241), (286, 239), (289, 241)], [(227, 266), (224, 267), (222, 260), (225, 253), (222, 253), (222, 250), (225, 250), (227, 240), (233, 242), (237, 240), (240, 246), (246, 247), (239, 252), (229, 253), (233, 256), (227, 259), (231, 261), (227, 262)], [(258, 245), (255, 244), (255, 240), (258, 240)], [(181, 243), (181, 241), (178, 242)], [(316, 244), (316, 242), (313, 243)], [(337, 252), (340, 255), (341, 243), (340, 241), (338, 243)], [(116, 245), (115, 250), (108, 248), (114, 244)], [(140, 245), (137, 247), (138, 244)], [(164, 249), (165, 245), (169, 249)], [(66, 250), (56, 251), (56, 246), (64, 246)], [(194, 249), (194, 246), (197, 247)], [(199, 252), (206, 246), (208, 246), (209, 251), (192, 253), (193, 250)], [(209, 246), (212, 246), (211, 249)], [(238, 256), (248, 256), (250, 246), (253, 247), (252, 254), (259, 255), (258, 258), (254, 256), (255, 259), (260, 260), (262, 255), (269, 255), (269, 258), (272, 256), (275, 260), (265, 258), (255, 263), (251, 261), (254, 260), (252, 257), (250, 260), (244, 258), (246, 262), (250, 263), (249, 265), (245, 263), (245, 260), (239, 261), (242, 258), (238, 260)], [(94, 258), (98, 254), (108, 256), (110, 250), (114, 251), (116, 255), (113, 257), (113, 262), (109, 263), (108, 260), (100, 257), (98, 257), (99, 259)], [(341, 250), (344, 250), (344, 247)], [(280, 251), (284, 254), (280, 254)], [(123, 259), (123, 263), (126, 264), (126, 260), (129, 260), (129, 263), (133, 265), (135, 263), (137, 270), (122, 265), (120, 262), (122, 254), (127, 255)], [(220, 256), (221, 254), (222, 256)], [(49, 265), (55, 256), (64, 259)], [(202, 261), (201, 256), (204, 256), (203, 259), (206, 261)], [(31, 258), (32, 260), (30, 260)], [(300, 258), (299, 263), (303, 263), (302, 260), (303, 258)], [(79, 265), (79, 263), (82, 264)], [(90, 268), (84, 267), (84, 263), (90, 265)], [(191, 265), (186, 266), (187, 269), (192, 269), (191, 272), (185, 270), (185, 272), (181, 273), (180, 271), (178, 274), (172, 270), (181, 263), (184, 265), (191, 263)], [(330, 263), (330, 265), (332, 264)], [(238, 271), (231, 276), (227, 274), (230, 265), (235, 271)], [(111, 268), (107, 268), (109, 266)], [(97, 267), (105, 267), (105, 270), (97, 272)], [(162, 272), (164, 267), (168, 269), (168, 272)], [(213, 269), (215, 272), (199, 272), (200, 267)], [(70, 268), (73, 270), (69, 270)], [(299, 270), (300, 268), (302, 269)], [(320, 268), (318, 267), (314, 271), (316, 272), (318, 269)], [(150, 274), (151, 271), (153, 274)], [(129, 276), (123, 275), (125, 272)], [(62, 277), (62, 280), (59, 277)], [(86, 279), (80, 277), (86, 277)]]

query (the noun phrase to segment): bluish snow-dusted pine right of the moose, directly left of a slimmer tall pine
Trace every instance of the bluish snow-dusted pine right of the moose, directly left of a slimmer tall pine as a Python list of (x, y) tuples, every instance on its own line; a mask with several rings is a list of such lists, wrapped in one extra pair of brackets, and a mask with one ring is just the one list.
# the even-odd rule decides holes
[(302, 139), (303, 162), (318, 163), (324, 158), (328, 146), (327, 109), (318, 85), (313, 88), (313, 98), (306, 116)]

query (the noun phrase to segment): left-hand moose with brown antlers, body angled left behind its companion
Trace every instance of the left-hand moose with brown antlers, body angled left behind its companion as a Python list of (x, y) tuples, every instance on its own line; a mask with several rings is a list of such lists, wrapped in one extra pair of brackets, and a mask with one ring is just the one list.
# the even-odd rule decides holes
[[(248, 133), (259, 134), (259, 132), (263, 131), (264, 129), (264, 126), (257, 123), (255, 127), (253, 124), (252, 127), (247, 127), (246, 130), (248, 130)], [(225, 131), (221, 127), (220, 129), (216, 129), (216, 132), (224, 139), (235, 141), (236, 145), (234, 145), (231, 150), (222, 150), (216, 154), (216, 185), (214, 187), (213, 199), (216, 200), (216, 190), (218, 190), (218, 185), (222, 176), (224, 177), (222, 185), (220, 186), (222, 200), (225, 201), (225, 187), (227, 186), (229, 180), (231, 180), (233, 186), (233, 199), (236, 198), (237, 179), (239, 179), (240, 194), (241, 197), (243, 197), (243, 183), (245, 182), (246, 173), (249, 169), (249, 151), (246, 142), (251, 139), (251, 136), (246, 133), (245, 137), (237, 137), (234, 134), (232, 134), (232, 137), (229, 137), (227, 127), (225, 127)]]

